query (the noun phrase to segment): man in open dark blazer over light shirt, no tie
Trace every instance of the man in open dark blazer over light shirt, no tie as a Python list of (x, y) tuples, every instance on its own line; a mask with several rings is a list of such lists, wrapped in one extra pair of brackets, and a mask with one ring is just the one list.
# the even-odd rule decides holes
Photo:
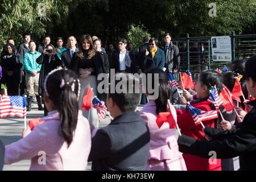
[(113, 52), (112, 55), (112, 67), (115, 69), (115, 73), (137, 73), (136, 68), (136, 54), (126, 49), (127, 40), (120, 39), (118, 42), (118, 50)]

